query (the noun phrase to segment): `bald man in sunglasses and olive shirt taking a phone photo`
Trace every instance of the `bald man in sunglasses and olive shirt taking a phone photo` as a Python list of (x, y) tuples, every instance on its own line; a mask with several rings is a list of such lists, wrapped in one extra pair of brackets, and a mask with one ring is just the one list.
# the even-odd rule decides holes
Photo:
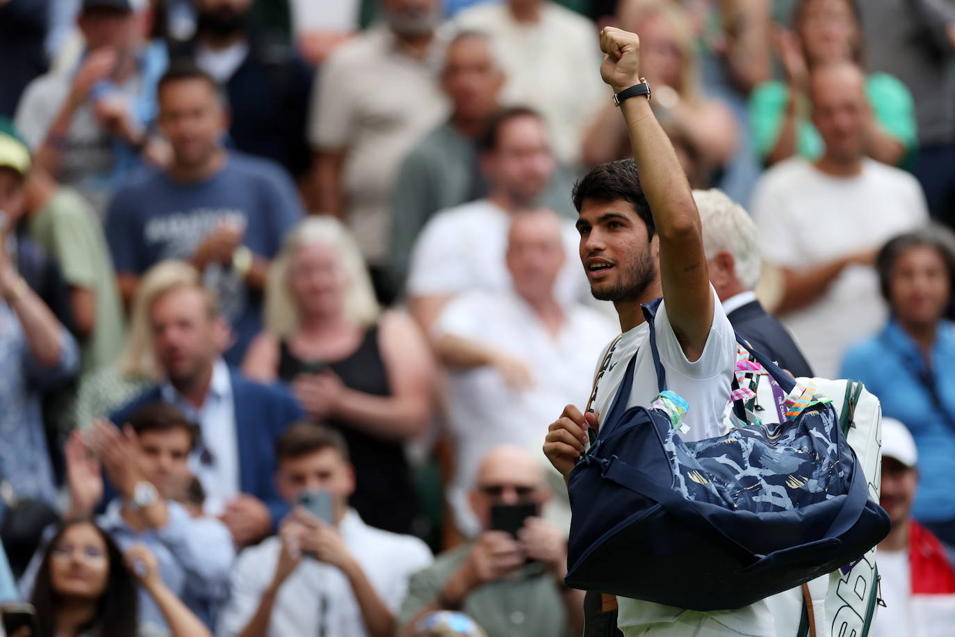
[(516, 533), (495, 528), (521, 505), (539, 512), (549, 497), (541, 463), (529, 452), (502, 445), (484, 456), (469, 495), (481, 534), (414, 575), (398, 615), (399, 635), (414, 634), (417, 620), (435, 610), (458, 609), (488, 637), (579, 634), (584, 593), (563, 585), (566, 535), (534, 515)]

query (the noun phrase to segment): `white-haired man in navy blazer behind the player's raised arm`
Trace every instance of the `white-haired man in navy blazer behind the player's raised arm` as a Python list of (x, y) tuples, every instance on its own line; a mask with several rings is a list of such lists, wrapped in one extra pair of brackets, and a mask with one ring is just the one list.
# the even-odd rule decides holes
[(721, 190), (694, 190), (703, 223), (710, 283), (733, 329), (794, 376), (813, 371), (790, 333), (756, 300), (761, 254), (758, 232), (750, 215)]

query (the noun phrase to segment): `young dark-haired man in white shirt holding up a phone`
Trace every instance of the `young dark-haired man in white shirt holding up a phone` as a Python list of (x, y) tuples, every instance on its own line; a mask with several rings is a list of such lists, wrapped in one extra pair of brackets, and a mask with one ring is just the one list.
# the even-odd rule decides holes
[[(417, 538), (366, 525), (349, 508), (354, 470), (337, 432), (293, 425), (275, 456), (276, 486), (296, 508), (279, 536), (239, 557), (219, 634), (391, 637), (408, 580), (432, 562), (431, 551)], [(296, 506), (303, 495), (324, 501), (323, 511)]]

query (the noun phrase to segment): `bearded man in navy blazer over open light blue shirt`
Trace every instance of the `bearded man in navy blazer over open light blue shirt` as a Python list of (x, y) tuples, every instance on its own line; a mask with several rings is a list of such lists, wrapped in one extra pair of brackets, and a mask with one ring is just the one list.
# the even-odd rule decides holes
[(121, 425), (157, 401), (180, 408), (200, 428), (190, 466), (206, 492), (206, 514), (221, 517), (239, 546), (261, 540), (288, 511), (272, 481), (272, 450), (286, 426), (302, 417), (301, 409), (290, 393), (225, 365), (216, 337), (219, 310), (205, 288), (180, 284), (163, 290), (149, 318), (166, 381), (111, 419)]

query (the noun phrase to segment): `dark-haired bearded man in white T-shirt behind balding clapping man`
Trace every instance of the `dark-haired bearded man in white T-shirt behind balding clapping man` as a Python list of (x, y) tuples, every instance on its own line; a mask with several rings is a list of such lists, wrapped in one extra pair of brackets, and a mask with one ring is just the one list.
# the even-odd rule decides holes
[[(425, 330), (456, 294), (510, 289), (504, 266), (507, 230), (516, 214), (537, 207), (556, 167), (543, 119), (523, 107), (493, 118), (479, 161), (488, 196), (439, 212), (414, 244), (406, 287), (412, 314)], [(576, 233), (569, 223), (564, 241), (568, 250), (576, 249)], [(569, 261), (557, 285), (562, 302), (586, 295), (580, 266)]]

